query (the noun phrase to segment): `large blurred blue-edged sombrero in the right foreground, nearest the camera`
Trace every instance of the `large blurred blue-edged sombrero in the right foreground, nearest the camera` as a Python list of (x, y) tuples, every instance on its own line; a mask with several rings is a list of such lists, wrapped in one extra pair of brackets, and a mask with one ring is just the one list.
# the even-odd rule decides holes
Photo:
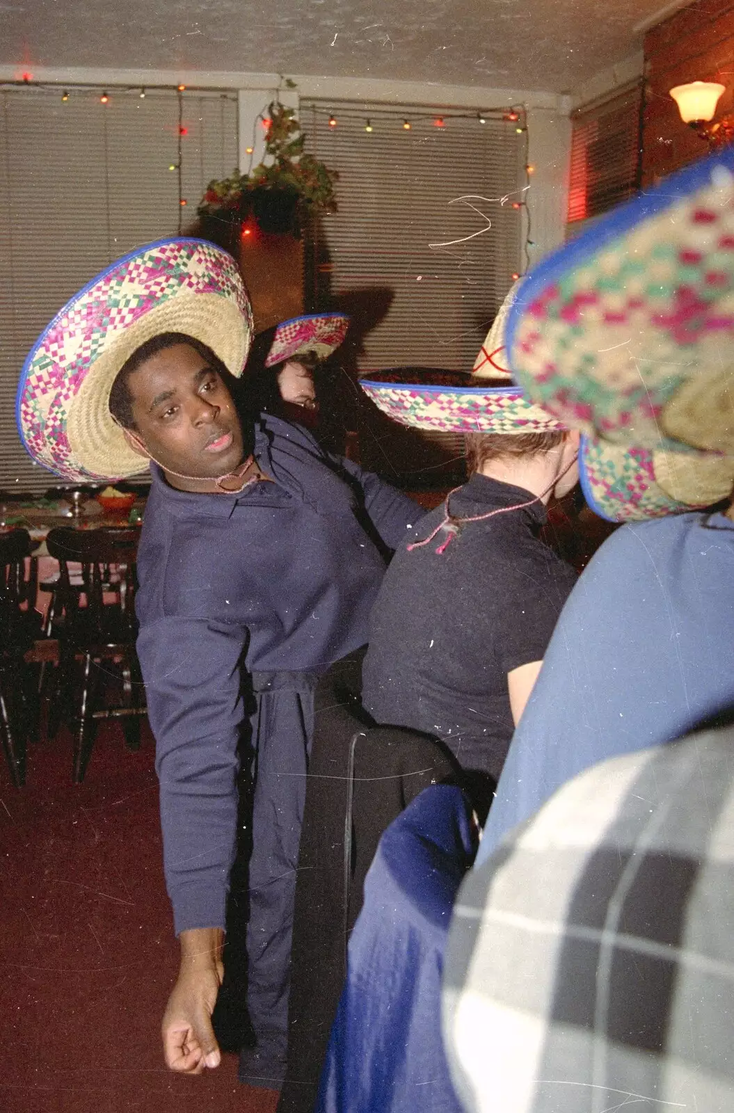
[(518, 292), (507, 342), (527, 396), (569, 426), (648, 449), (734, 452), (731, 401), (696, 412), (691, 397), (707, 396), (734, 342), (734, 149), (672, 175), (544, 259)]

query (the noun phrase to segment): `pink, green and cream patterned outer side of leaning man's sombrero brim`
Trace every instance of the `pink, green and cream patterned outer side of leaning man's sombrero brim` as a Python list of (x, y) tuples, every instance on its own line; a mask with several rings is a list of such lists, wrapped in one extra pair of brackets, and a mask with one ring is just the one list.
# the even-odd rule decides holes
[(111, 334), (182, 293), (231, 299), (252, 328), (235, 260), (200, 239), (148, 244), (102, 270), (59, 311), (28, 355), (18, 387), (18, 430), (35, 460), (78, 477), (67, 418), (81, 383)]

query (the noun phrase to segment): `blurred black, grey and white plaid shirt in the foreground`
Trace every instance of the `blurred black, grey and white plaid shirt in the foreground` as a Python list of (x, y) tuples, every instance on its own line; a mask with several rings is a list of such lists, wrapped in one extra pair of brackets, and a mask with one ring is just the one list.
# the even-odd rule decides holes
[(467, 1111), (734, 1109), (733, 751), (730, 725), (604, 761), (468, 873), (442, 992)]

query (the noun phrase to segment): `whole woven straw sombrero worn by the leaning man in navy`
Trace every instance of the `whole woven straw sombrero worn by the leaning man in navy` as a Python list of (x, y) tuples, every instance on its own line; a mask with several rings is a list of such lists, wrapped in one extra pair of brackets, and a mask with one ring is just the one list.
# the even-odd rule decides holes
[(160, 333), (200, 341), (242, 374), (252, 312), (231, 255), (202, 239), (158, 240), (107, 267), (57, 313), (18, 387), (18, 430), (33, 460), (69, 480), (138, 473), (109, 392), (123, 364)]

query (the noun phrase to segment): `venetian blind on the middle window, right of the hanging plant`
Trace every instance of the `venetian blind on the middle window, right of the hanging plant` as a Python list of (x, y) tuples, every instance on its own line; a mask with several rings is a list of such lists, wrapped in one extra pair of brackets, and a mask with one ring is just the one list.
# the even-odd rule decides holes
[[(523, 197), (525, 136), (501, 119), (481, 124), (477, 112), (457, 111), (447, 109), (437, 127), (440, 111), (415, 106), (301, 105), (307, 149), (339, 173), (337, 211), (319, 230), (330, 287), (321, 302), (361, 293), (378, 318), (360, 335), (360, 373), (470, 371), (521, 269), (512, 201)], [(461, 455), (462, 439), (431, 435)]]

